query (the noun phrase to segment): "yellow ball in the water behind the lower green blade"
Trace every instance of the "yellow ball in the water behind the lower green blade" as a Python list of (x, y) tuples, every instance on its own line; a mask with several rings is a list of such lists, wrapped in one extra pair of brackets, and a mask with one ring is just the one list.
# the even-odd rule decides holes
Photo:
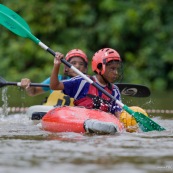
[[(142, 113), (142, 114), (148, 116), (147, 112), (138, 106), (131, 106), (130, 108), (135, 112), (139, 112), (139, 113)], [(137, 132), (139, 129), (135, 118), (133, 118), (125, 110), (123, 110), (120, 115), (120, 121), (123, 123), (127, 132), (131, 132), (131, 133)]]

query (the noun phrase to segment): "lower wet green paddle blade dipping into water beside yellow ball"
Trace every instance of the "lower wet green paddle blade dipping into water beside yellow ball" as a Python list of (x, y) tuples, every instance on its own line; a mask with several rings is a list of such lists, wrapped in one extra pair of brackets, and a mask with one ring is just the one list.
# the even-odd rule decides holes
[(130, 109), (126, 105), (123, 106), (123, 109), (135, 118), (135, 120), (138, 123), (140, 129), (143, 132), (166, 130), (165, 128), (161, 127), (159, 124), (154, 122), (149, 117), (145, 116), (142, 113), (134, 112), (132, 109)]

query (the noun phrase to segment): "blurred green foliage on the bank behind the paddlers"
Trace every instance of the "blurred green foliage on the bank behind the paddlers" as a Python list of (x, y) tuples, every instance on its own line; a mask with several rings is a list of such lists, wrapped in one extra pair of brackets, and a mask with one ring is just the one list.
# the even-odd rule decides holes
[[(173, 87), (173, 1), (171, 0), (1, 0), (22, 16), (37, 38), (54, 51), (84, 50), (91, 60), (103, 48), (116, 49), (124, 82), (154, 90)], [(0, 26), (0, 75), (41, 82), (53, 57), (32, 41)], [(92, 74), (91, 68), (88, 71)], [(61, 70), (62, 73), (62, 70)]]

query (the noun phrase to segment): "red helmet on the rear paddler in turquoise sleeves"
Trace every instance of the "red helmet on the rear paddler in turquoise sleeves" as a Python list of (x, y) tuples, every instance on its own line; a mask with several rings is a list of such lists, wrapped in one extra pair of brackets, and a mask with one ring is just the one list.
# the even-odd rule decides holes
[(74, 56), (81, 57), (86, 62), (86, 64), (88, 65), (88, 58), (87, 58), (86, 54), (82, 50), (80, 50), (80, 49), (72, 49), (72, 50), (70, 50), (66, 54), (65, 59), (68, 61), (70, 58), (72, 58)]

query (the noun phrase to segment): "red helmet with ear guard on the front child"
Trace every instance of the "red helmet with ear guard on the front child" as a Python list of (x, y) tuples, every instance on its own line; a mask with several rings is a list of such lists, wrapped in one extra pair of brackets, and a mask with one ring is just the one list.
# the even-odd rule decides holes
[[(117, 51), (111, 48), (103, 48), (97, 51), (92, 58), (92, 70), (98, 74), (103, 75), (105, 72), (105, 65), (109, 61), (121, 61), (120, 55)], [(102, 69), (99, 69), (99, 64), (102, 65)]]

